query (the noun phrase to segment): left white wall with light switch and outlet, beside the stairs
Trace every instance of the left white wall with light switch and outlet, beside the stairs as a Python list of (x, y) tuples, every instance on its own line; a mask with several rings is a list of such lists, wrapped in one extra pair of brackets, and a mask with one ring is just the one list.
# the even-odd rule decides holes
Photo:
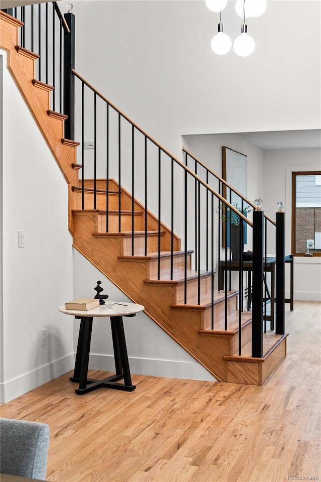
[[(58, 307), (72, 299), (73, 277), (67, 184), (2, 54), (1, 402), (8, 402), (72, 369), (73, 322)], [(18, 230), (25, 231), (25, 248), (18, 248)]]

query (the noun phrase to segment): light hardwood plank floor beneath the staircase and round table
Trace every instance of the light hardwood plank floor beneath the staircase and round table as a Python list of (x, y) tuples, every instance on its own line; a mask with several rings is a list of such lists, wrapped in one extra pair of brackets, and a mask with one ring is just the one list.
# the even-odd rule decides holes
[(287, 357), (263, 387), (133, 375), (132, 393), (77, 396), (66, 374), (2, 417), (50, 425), (52, 482), (320, 480), (320, 308), (286, 308)]

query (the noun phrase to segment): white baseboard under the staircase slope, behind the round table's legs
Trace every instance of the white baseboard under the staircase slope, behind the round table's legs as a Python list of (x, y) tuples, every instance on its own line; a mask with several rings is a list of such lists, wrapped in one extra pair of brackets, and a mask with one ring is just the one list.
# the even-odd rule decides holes
[[(129, 357), (129, 368), (132, 375), (148, 375), (150, 377), (183, 378), (189, 380), (207, 380), (216, 382), (214, 378), (198, 362), (180, 362), (176, 360), (155, 360), (150, 358)], [(90, 354), (89, 370), (115, 371), (113, 355)]]

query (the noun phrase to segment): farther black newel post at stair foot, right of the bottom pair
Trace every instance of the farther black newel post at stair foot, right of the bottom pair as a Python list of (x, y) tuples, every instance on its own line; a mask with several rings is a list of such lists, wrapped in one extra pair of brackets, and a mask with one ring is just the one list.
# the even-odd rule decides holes
[(276, 229), (275, 229), (275, 254), (276, 254), (276, 282), (275, 282), (275, 298), (276, 298), (276, 319), (275, 333), (284, 335), (285, 333), (285, 229), (284, 229), (284, 212), (276, 213)]

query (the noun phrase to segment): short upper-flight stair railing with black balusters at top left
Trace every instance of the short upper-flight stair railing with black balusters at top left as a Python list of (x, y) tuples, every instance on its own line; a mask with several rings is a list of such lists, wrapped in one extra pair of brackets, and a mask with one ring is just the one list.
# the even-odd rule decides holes
[(54, 87), (51, 92), (52, 110), (63, 113), (64, 70), (65, 74), (69, 72), (71, 76), (71, 67), (67, 65), (67, 68), (64, 68), (64, 44), (68, 42), (70, 29), (57, 2), (14, 7), (3, 11), (24, 23), (20, 29), (19, 45), (39, 55), (36, 78)]

